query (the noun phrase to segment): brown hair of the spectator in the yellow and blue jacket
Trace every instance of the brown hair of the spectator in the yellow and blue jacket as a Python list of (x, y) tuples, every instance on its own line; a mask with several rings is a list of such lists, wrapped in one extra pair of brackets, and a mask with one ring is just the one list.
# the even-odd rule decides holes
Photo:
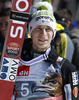
[(54, 12), (57, 21), (71, 21), (73, 19), (72, 12), (69, 9), (60, 9)]

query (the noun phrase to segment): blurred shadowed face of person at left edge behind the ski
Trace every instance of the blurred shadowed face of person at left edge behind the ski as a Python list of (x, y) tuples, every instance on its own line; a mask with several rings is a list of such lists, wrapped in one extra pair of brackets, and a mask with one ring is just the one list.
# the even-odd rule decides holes
[(8, 22), (9, 16), (0, 17), (0, 31), (4, 38), (6, 36)]

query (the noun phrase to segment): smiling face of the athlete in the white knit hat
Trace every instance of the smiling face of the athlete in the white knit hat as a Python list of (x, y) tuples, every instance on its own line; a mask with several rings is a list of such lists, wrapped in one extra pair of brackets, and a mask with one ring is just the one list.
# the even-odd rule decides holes
[(40, 25), (34, 28), (31, 34), (33, 48), (37, 51), (46, 51), (50, 47), (54, 33), (51, 27)]

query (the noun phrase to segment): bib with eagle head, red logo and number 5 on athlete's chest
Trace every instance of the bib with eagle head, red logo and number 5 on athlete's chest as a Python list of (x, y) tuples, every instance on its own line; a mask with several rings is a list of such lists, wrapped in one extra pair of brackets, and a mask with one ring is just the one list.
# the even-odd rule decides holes
[[(24, 91), (21, 90), (23, 85), (25, 85), (28, 89), (26, 95), (24, 95)], [(61, 88), (61, 86), (62, 76), (59, 65), (54, 66), (51, 63), (41, 61), (31, 66), (20, 65), (18, 69), (15, 83), (15, 89), (18, 93), (18, 98), (35, 95), (38, 95), (38, 97), (42, 96), (42, 98), (46, 97), (46, 95), (47, 97), (51, 95), (61, 95), (61, 93), (52, 94), (52, 91), (58, 91), (56, 89)], [(23, 94), (21, 94), (21, 92)]]

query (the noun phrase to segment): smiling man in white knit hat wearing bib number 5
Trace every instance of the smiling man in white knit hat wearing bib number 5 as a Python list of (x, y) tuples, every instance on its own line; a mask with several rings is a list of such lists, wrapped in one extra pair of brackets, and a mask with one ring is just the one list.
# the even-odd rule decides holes
[(58, 57), (51, 47), (56, 21), (46, 10), (32, 15), (29, 23), (32, 39), (24, 41), (18, 67), (15, 100), (78, 100), (76, 67)]

